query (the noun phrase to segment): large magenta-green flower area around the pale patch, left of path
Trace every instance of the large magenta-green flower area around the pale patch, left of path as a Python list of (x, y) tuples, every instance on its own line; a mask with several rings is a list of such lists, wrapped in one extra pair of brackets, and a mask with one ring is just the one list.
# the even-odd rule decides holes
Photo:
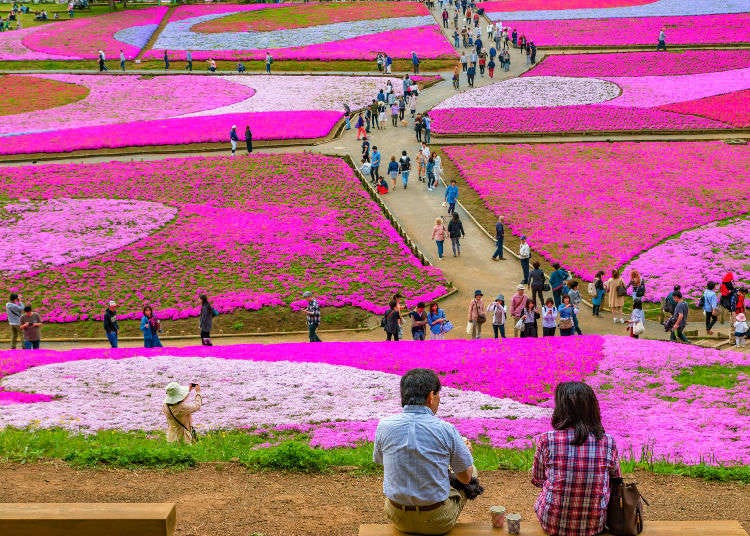
[(282, 154), (4, 168), (0, 196), (133, 198), (178, 210), (169, 225), (124, 248), (4, 274), (49, 322), (99, 318), (110, 299), (120, 304), (121, 318), (140, 318), (143, 304), (151, 303), (161, 318), (180, 319), (198, 315), (203, 293), (226, 313), (299, 308), (307, 289), (323, 306), (373, 312), (382, 312), (396, 291), (409, 304), (446, 292), (440, 271), (421, 265), (337, 158)]

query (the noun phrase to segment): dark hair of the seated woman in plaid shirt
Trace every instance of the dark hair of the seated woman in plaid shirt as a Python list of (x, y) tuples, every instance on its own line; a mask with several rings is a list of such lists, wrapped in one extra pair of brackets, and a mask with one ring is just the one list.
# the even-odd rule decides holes
[(573, 445), (583, 445), (589, 434), (601, 439), (604, 427), (594, 390), (583, 382), (559, 383), (555, 389), (552, 427), (555, 430), (573, 428)]

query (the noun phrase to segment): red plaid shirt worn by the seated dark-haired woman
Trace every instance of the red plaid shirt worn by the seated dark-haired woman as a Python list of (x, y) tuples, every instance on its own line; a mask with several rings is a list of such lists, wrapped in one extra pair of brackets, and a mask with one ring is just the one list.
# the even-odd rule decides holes
[(534, 503), (546, 534), (593, 536), (604, 530), (609, 479), (620, 476), (617, 446), (609, 434), (571, 443), (573, 429), (553, 430), (536, 438), (531, 483), (542, 491)]

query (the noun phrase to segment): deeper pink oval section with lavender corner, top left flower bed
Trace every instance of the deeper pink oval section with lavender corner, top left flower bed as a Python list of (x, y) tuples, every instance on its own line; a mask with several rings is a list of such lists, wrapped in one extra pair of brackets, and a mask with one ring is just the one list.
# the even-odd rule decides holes
[[(115, 59), (122, 49), (128, 59), (133, 59), (148, 42), (167, 9), (166, 6), (131, 9), (50, 23), (40, 26), (42, 29), (39, 31), (28, 33), (23, 39), (23, 44), (28, 49), (42, 54), (76, 59), (95, 59), (99, 49), (102, 49), (108, 58)], [(141, 43), (140, 46), (115, 39), (115, 33), (128, 28), (133, 29), (134, 37)]]

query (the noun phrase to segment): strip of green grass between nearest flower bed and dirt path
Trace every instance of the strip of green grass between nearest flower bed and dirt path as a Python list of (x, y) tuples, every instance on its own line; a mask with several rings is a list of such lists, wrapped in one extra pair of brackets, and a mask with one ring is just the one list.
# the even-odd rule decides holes
[[(306, 434), (263, 430), (217, 431), (202, 435), (194, 445), (167, 443), (162, 432), (100, 431), (91, 435), (66, 430), (0, 430), (0, 460), (32, 463), (64, 460), (75, 467), (124, 467), (181, 470), (204, 462), (234, 462), (250, 470), (328, 472), (349, 467), (360, 473), (380, 473), (372, 461), (372, 443), (354, 448), (319, 449), (309, 445)], [(481, 471), (531, 469), (533, 449), (501, 449), (474, 445), (474, 462)], [(750, 484), (750, 466), (684, 465), (651, 461), (622, 461), (626, 473), (635, 469), (720, 482)]]

